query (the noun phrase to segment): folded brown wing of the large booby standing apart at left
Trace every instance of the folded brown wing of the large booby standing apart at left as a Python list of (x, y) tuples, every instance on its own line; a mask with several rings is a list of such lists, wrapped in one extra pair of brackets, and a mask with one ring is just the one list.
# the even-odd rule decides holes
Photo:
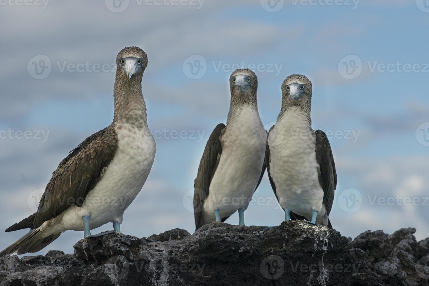
[(52, 173), (37, 212), (6, 231), (36, 229), (70, 206), (82, 206), (88, 192), (102, 178), (117, 147), (117, 134), (111, 126), (86, 138)]

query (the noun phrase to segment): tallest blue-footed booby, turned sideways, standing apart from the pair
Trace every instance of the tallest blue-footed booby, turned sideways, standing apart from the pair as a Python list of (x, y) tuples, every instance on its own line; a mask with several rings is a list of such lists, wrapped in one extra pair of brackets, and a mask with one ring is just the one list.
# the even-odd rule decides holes
[(30, 232), (0, 253), (34, 253), (66, 230), (84, 231), (113, 223), (120, 232), (124, 211), (145, 184), (155, 157), (148, 129), (142, 76), (148, 64), (138, 47), (124, 48), (116, 58), (114, 119), (89, 136), (53, 172), (38, 210), (6, 232)]

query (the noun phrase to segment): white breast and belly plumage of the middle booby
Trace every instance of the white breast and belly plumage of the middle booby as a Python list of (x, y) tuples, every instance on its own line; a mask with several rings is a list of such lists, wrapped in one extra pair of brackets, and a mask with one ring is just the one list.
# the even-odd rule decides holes
[(222, 155), (204, 202), (204, 220), (214, 221), (215, 210), (228, 217), (246, 210), (262, 172), (266, 133), (259, 114), (243, 108), (222, 136)]

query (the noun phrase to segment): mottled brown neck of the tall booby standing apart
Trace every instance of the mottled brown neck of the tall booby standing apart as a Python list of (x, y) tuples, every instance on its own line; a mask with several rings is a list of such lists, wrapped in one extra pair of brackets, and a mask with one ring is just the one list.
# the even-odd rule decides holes
[(115, 102), (114, 123), (131, 124), (138, 129), (148, 127), (146, 102), (142, 94), (142, 78), (116, 77), (113, 90)]

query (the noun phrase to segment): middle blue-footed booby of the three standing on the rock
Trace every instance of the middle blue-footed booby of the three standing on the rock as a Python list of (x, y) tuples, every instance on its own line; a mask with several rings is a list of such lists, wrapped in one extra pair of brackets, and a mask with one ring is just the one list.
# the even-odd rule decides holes
[(265, 172), (266, 130), (257, 106), (258, 81), (250, 69), (230, 76), (231, 101), (227, 125), (221, 123), (210, 135), (194, 184), (196, 229), (212, 221), (224, 222), (244, 211)]

